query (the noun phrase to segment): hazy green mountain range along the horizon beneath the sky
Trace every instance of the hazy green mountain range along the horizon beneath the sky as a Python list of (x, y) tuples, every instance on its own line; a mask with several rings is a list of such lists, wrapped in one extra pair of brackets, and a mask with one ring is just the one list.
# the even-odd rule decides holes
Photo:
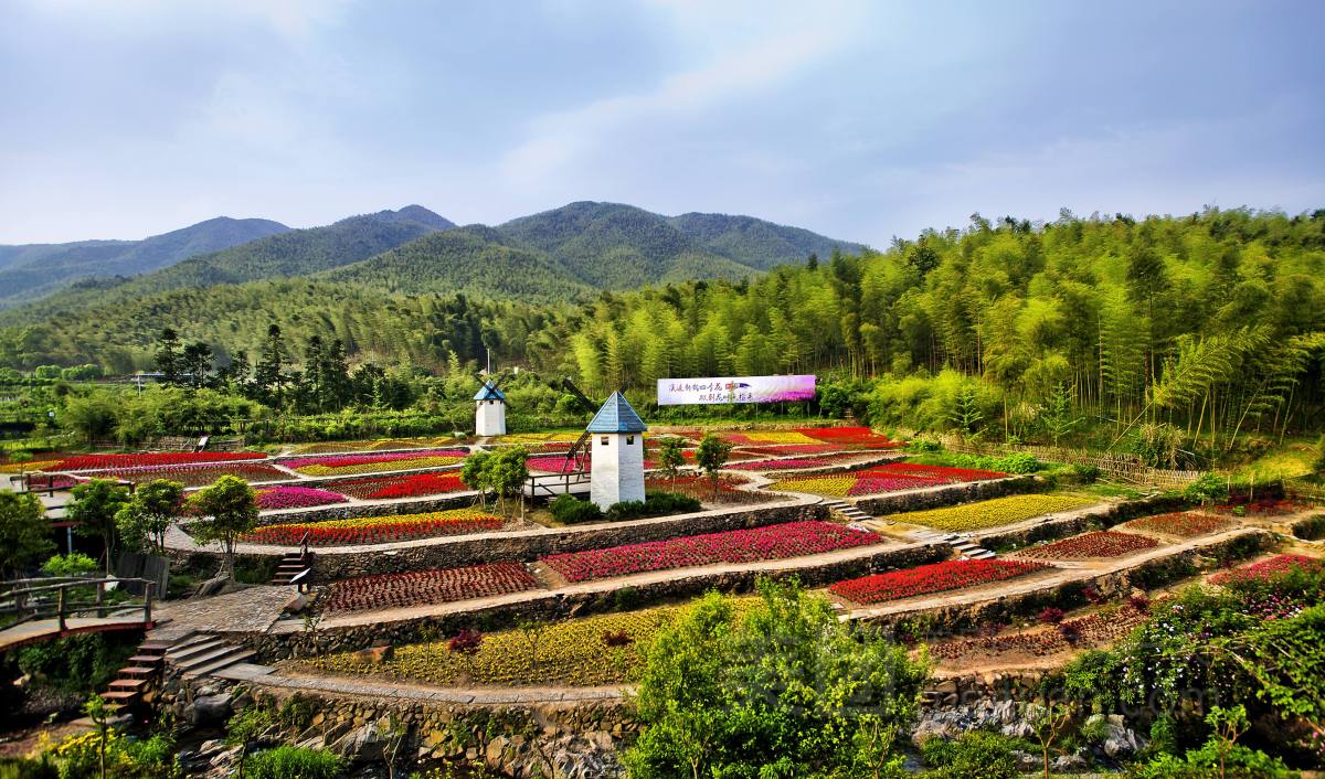
[(741, 280), (849, 241), (749, 216), (662, 216), (615, 203), (571, 203), (497, 227), (457, 227), (421, 205), (290, 229), (212, 219), (142, 241), (0, 246), (7, 321), (136, 299), (182, 287), (307, 278), (388, 293), (567, 301), (598, 290), (690, 278)]

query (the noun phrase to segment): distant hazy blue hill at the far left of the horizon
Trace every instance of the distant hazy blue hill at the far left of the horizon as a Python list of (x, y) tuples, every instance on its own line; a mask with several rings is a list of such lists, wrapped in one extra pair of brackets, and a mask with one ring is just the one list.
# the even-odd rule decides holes
[(0, 246), (0, 306), (36, 299), (80, 278), (150, 273), (289, 229), (266, 219), (221, 216), (140, 241)]

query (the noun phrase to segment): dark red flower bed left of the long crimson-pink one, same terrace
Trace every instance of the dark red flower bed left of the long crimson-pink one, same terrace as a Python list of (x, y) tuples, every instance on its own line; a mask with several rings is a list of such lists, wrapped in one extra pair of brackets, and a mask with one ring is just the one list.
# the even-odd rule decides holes
[(346, 579), (333, 584), (319, 599), (319, 605), (323, 612), (337, 613), (449, 603), (537, 588), (538, 582), (525, 566), (489, 563)]

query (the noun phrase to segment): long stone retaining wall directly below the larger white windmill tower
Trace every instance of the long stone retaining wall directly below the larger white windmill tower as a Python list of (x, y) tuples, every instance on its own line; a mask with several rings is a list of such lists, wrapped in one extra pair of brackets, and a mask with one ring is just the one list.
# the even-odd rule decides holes
[(551, 554), (604, 548), (625, 543), (662, 541), (681, 535), (746, 530), (804, 519), (825, 519), (822, 503), (749, 506), (556, 529), (484, 533), (456, 538), (338, 547), (313, 554), (314, 582), (333, 582), (366, 574), (394, 574), (425, 568), (477, 566), (501, 560), (533, 562)]

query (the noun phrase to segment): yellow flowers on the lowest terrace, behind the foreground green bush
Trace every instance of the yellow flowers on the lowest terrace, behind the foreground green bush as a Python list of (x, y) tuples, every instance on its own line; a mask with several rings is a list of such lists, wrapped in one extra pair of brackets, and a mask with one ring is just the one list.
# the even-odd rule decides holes
[[(750, 608), (758, 599), (737, 601)], [(371, 662), (354, 653), (301, 661), (329, 673), (384, 674), (433, 685), (566, 685), (606, 686), (629, 682), (639, 672), (640, 648), (686, 607), (665, 605), (643, 611), (590, 616), (550, 623), (538, 631), (488, 633), (472, 658), (450, 652), (447, 640), (396, 647), (391, 660)], [(624, 635), (628, 643), (610, 647), (604, 635)], [(537, 648), (537, 652), (535, 652)]]

